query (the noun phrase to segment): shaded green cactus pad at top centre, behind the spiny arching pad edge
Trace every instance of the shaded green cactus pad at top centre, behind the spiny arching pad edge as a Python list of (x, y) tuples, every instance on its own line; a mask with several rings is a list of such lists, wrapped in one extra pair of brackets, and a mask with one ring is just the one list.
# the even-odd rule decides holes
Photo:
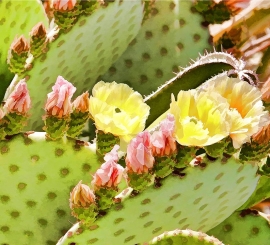
[(129, 48), (102, 76), (104, 81), (126, 83), (147, 95), (179, 72), (179, 66), (210, 49), (209, 31), (194, 13), (192, 1), (157, 0), (151, 13)]

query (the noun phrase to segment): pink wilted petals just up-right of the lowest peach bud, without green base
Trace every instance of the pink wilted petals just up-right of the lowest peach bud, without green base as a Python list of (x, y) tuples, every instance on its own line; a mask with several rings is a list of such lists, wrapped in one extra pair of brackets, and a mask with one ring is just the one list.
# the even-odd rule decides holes
[(111, 152), (104, 157), (105, 163), (96, 171), (92, 184), (96, 187), (117, 187), (120, 183), (124, 168), (117, 164), (119, 145), (115, 145)]

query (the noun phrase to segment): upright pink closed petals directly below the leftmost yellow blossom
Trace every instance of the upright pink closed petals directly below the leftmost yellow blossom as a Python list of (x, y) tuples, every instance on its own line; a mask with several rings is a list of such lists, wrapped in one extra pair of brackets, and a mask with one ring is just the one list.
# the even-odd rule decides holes
[(147, 131), (141, 132), (131, 140), (127, 147), (127, 169), (138, 174), (147, 173), (149, 169), (153, 168), (154, 161), (150, 134)]

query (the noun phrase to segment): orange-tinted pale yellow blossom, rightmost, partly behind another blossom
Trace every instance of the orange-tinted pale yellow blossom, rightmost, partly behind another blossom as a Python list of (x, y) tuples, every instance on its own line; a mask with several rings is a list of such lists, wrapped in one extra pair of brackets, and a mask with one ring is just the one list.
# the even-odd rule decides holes
[(258, 88), (238, 78), (219, 77), (205, 86), (207, 91), (218, 92), (230, 107), (230, 137), (237, 149), (249, 142), (250, 137), (269, 122)]

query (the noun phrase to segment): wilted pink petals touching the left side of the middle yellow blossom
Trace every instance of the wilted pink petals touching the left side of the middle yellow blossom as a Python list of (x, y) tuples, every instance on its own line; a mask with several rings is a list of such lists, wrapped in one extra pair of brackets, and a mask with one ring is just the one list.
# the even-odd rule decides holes
[(152, 151), (154, 156), (171, 155), (176, 151), (174, 138), (175, 120), (172, 114), (160, 123), (160, 128), (151, 135)]

